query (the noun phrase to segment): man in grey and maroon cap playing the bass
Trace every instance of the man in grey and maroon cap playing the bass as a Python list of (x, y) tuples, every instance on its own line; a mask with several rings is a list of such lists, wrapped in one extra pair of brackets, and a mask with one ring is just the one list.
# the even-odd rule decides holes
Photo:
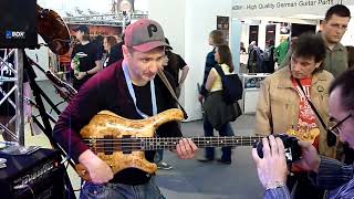
[[(157, 22), (142, 19), (128, 25), (122, 46), (124, 60), (90, 78), (60, 115), (53, 136), (74, 161), (87, 168), (92, 179), (83, 184), (81, 198), (164, 198), (154, 175), (136, 168), (113, 174), (110, 166), (83, 143), (79, 133), (104, 109), (128, 119), (142, 119), (176, 107), (167, 87), (156, 76), (163, 69), (166, 46), (164, 31)], [(169, 82), (174, 86), (173, 80)], [(183, 137), (177, 122), (160, 125), (156, 134)], [(191, 139), (183, 138), (176, 145), (181, 159), (192, 158), (196, 149)], [(145, 151), (150, 163), (154, 155), (155, 151)]]

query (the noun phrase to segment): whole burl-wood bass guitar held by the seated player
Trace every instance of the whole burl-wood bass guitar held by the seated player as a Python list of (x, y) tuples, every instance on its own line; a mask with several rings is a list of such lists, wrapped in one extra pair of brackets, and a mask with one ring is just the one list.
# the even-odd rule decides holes
[[(80, 134), (90, 149), (110, 165), (113, 174), (132, 167), (153, 174), (157, 167), (145, 159), (144, 151), (174, 149), (181, 139), (181, 137), (154, 137), (155, 130), (167, 122), (181, 119), (184, 119), (184, 113), (177, 108), (136, 121), (103, 111), (95, 115)], [(227, 136), (192, 137), (191, 140), (199, 148), (204, 148), (252, 146), (262, 136)], [(75, 168), (84, 180), (90, 181), (90, 174), (83, 165), (79, 164)]]

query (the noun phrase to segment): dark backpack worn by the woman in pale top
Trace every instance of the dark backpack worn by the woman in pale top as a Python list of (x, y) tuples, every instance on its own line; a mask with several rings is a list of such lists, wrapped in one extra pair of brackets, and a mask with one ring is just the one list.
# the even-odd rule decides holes
[(233, 104), (242, 98), (243, 86), (238, 74), (225, 75), (220, 65), (216, 65), (218, 74), (222, 83), (222, 97), (227, 104)]

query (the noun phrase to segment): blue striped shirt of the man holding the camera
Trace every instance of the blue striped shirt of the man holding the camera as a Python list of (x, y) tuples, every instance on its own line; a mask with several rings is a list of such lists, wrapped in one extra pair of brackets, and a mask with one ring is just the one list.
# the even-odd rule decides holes
[[(331, 190), (326, 198), (354, 198), (354, 165), (343, 165), (336, 159), (321, 157), (319, 174), (310, 174), (314, 185)], [(263, 199), (290, 199), (287, 187), (269, 189)]]

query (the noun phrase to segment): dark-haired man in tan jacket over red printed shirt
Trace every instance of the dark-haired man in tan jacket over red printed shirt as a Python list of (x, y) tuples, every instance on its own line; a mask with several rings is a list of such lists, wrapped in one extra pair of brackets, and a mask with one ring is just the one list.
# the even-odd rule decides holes
[[(323, 70), (325, 44), (320, 35), (299, 36), (292, 46), (290, 65), (261, 83), (256, 108), (256, 134), (267, 136), (292, 130), (303, 134), (320, 130), (314, 146), (321, 155), (335, 157), (335, 147), (327, 146), (327, 133), (309, 103), (313, 103), (326, 124), (327, 91), (333, 75)], [(293, 168), (293, 174), (287, 182), (289, 189), (294, 189), (292, 191), (295, 199), (306, 196), (320, 199), (323, 196), (323, 190), (314, 188), (305, 172)]]

